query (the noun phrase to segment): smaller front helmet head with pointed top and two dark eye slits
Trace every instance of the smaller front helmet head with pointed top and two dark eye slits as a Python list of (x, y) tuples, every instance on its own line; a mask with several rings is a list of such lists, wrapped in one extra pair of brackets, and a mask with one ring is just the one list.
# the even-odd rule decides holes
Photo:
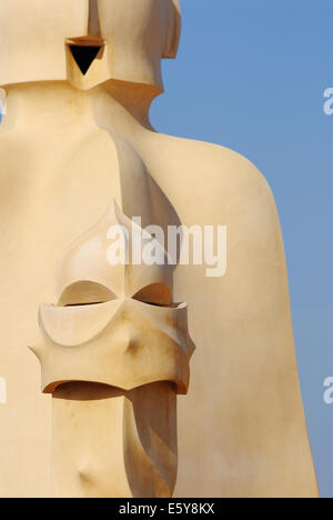
[[(58, 306), (40, 307), (41, 339), (33, 351), (42, 366), (42, 390), (53, 393), (70, 381), (123, 390), (169, 381), (186, 393), (194, 346), (186, 306), (172, 302), (172, 268), (111, 266), (107, 242), (114, 226), (129, 231), (131, 250), (139, 229), (113, 203), (64, 257)], [(149, 244), (164, 253), (142, 234), (141, 249)], [(167, 260), (167, 253), (159, 257)]]

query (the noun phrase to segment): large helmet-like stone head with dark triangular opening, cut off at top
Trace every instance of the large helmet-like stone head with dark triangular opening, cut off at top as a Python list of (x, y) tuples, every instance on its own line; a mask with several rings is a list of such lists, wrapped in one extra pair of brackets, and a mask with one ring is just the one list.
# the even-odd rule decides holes
[[(88, 89), (114, 79), (161, 87), (160, 60), (175, 57), (179, 29), (178, 0), (1, 0), (0, 84), (69, 80)], [(100, 49), (88, 70), (73, 44), (82, 56)]]

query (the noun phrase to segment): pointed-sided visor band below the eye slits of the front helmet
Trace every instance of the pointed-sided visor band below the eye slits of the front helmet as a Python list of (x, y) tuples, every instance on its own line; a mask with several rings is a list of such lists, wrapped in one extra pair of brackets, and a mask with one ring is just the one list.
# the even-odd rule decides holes
[(123, 390), (158, 381), (186, 393), (189, 337), (186, 307), (155, 308), (132, 299), (97, 306), (41, 306), (42, 337), (34, 352), (42, 369), (42, 391), (59, 384), (97, 382)]

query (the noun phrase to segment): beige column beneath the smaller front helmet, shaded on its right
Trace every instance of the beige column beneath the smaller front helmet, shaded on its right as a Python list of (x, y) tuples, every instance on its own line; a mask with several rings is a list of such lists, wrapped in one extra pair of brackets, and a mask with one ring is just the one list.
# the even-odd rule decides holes
[(59, 388), (52, 400), (54, 494), (171, 497), (178, 460), (175, 399), (165, 382), (130, 392), (88, 383)]

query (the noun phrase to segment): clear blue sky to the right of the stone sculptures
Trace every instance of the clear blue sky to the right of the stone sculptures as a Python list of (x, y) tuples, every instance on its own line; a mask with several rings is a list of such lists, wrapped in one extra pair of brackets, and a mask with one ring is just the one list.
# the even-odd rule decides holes
[(302, 392), (321, 494), (333, 497), (333, 0), (182, 0), (152, 123), (220, 143), (270, 182), (283, 228)]

